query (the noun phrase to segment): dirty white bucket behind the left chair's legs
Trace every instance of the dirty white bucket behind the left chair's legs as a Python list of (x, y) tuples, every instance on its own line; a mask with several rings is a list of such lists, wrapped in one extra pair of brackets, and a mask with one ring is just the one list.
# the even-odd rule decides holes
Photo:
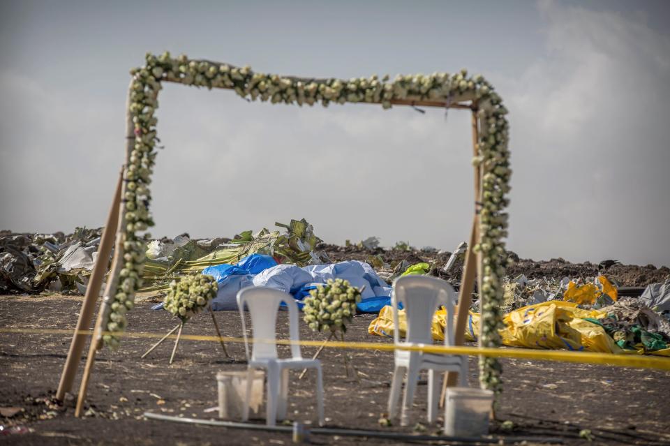
[[(246, 371), (218, 372), (216, 382), (218, 383), (218, 416), (223, 419), (241, 420), (244, 411), (244, 395), (246, 394)], [(251, 400), (249, 408), (254, 413), (263, 401), (263, 381), (265, 373), (261, 370), (253, 372), (253, 383), (251, 385)]]

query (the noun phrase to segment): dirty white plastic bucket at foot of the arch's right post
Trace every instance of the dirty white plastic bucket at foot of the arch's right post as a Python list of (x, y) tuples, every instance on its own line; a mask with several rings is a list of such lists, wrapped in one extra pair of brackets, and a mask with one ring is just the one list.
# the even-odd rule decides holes
[(445, 435), (479, 437), (489, 433), (493, 391), (471, 387), (447, 387)]

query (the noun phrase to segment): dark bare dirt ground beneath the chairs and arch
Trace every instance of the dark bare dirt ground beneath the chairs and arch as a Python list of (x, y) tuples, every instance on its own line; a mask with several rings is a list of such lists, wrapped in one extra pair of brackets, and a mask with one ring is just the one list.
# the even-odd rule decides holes
[[(0, 297), (0, 328), (73, 329), (80, 297)], [(151, 311), (151, 302), (141, 302), (129, 313), (129, 332), (167, 332), (175, 325), (168, 313)], [(237, 312), (218, 312), (224, 336), (241, 336)], [(389, 339), (367, 334), (374, 315), (357, 316), (347, 333), (348, 341), (389, 343)], [(278, 318), (278, 333), (288, 334), (285, 313)], [(211, 319), (201, 314), (189, 321), (186, 334), (214, 334)], [(301, 339), (319, 340), (301, 322)], [(172, 343), (164, 343), (145, 359), (142, 352), (153, 339), (125, 339), (117, 352), (103, 350), (96, 362), (87, 399), (87, 413), (73, 416), (73, 401), (64, 406), (52, 402), (70, 338), (61, 334), (0, 333), (0, 407), (16, 407), (12, 417), (0, 417), (8, 445), (282, 445), (291, 443), (290, 433), (267, 433), (151, 421), (143, 412), (181, 415), (199, 419), (215, 417), (204, 412), (216, 406), (216, 373), (244, 370), (244, 346), (228, 345), (237, 361), (227, 362), (218, 343), (183, 341), (177, 357), (168, 365)], [(280, 346), (283, 355), (288, 348)], [(312, 355), (315, 348), (303, 348)], [(579, 353), (576, 353), (579, 354)], [(362, 382), (347, 379), (343, 350), (325, 350), (321, 355), (325, 378), (327, 426), (412, 433), (412, 426), (426, 425), (426, 385), (419, 382), (412, 409), (412, 426), (380, 426), (386, 410), (393, 356), (390, 352), (351, 350)], [(491, 433), (513, 440), (526, 437), (526, 444), (556, 438), (565, 444), (661, 445), (670, 444), (670, 373), (611, 366), (558, 362), (503, 361), (505, 392), (498, 421)], [(470, 358), (471, 386), (477, 385), (477, 362)], [(425, 379), (425, 378), (422, 378)], [(315, 424), (315, 379), (308, 373), (290, 378), (291, 421)], [(75, 382), (78, 389), (79, 382)], [(256, 417), (262, 424), (265, 412)], [(511, 430), (502, 422), (513, 423)], [(427, 425), (426, 433), (440, 430), (442, 420)], [(395, 423), (397, 424), (397, 422)], [(505, 424), (505, 426), (508, 426)], [(7, 434), (12, 426), (24, 433)], [(580, 438), (588, 429), (592, 443)], [(312, 436), (313, 444), (359, 444), (363, 438)], [(373, 444), (401, 444), (392, 440), (367, 439)], [(556, 442), (555, 442), (556, 443)]]

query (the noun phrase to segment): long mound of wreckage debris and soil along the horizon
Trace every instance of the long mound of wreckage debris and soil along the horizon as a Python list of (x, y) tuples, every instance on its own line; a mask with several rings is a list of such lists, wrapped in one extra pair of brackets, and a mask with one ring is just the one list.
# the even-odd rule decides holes
[[(278, 263), (299, 267), (358, 260), (370, 265), (387, 283), (410, 269), (412, 274), (431, 274), (444, 278), (456, 288), (460, 285), (466, 243), (459, 244), (454, 252), (438, 251), (429, 246), (412, 248), (407, 241), (398, 242), (392, 248), (382, 248), (378, 237), (336, 246), (323, 243), (304, 219), (276, 225), (278, 230), (263, 229), (256, 233), (246, 230), (232, 238), (191, 239), (185, 233), (174, 239), (164, 237), (150, 241), (141, 291), (165, 291), (174, 278), (200, 272), (212, 265), (234, 265), (254, 253), (270, 255)], [(101, 232), (101, 228), (77, 228), (70, 235), (62, 232), (51, 235), (0, 232), (0, 292), (84, 292)], [(621, 265), (616, 260), (604, 260), (600, 264), (571, 263), (562, 258), (536, 262), (520, 259), (511, 251), (507, 252), (507, 259), (510, 265), (507, 268), (509, 276), (505, 278), (506, 312), (563, 299), (568, 287), (573, 286), (574, 290), (569, 294), (576, 293), (581, 299), (597, 295), (599, 305), (604, 306), (611, 302), (606, 300), (609, 294), (602, 289), (602, 284), (595, 282), (599, 276), (606, 277), (613, 288), (655, 286), (646, 292), (648, 306), (654, 306), (653, 296), (662, 295), (664, 297), (659, 302), (670, 311), (670, 285), (659, 288), (664, 281), (670, 280), (668, 267)], [(571, 281), (573, 285), (570, 285)], [(476, 297), (475, 289), (475, 305)], [(477, 310), (477, 307), (473, 309)]]

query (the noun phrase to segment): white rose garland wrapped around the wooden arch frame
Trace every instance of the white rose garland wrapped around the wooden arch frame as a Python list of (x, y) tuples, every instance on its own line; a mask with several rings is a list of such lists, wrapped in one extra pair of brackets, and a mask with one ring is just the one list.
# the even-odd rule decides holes
[[(179, 82), (195, 87), (226, 88), (251, 101), (269, 101), (297, 105), (321, 103), (380, 103), (388, 109), (394, 101), (441, 101), (445, 104), (472, 101), (479, 119), (479, 143), (477, 156), (472, 159), (475, 167), (482, 170), (482, 201), (479, 203), (479, 233), (481, 243), (474, 246), (482, 253), (483, 285), (480, 290), (482, 302), (482, 345), (500, 345), (498, 329), (502, 327), (502, 276), (505, 274), (505, 243), (507, 237), (507, 214), (504, 212), (509, 200), (509, 125), (505, 115), (507, 109), (500, 96), (482, 75), (459, 73), (433, 73), (431, 75), (398, 75), (388, 77), (355, 77), (350, 80), (308, 79), (282, 77), (255, 73), (250, 67), (242, 68), (218, 64), (211, 61), (191, 60), (186, 55), (177, 58), (165, 52), (160, 56), (147, 54), (146, 64), (131, 70), (133, 82), (130, 90), (129, 113), (133, 123), (134, 146), (126, 158), (124, 179), (125, 227), (123, 228), (124, 268), (112, 277), (113, 301), (117, 310), (109, 312), (104, 327), (110, 332), (122, 331), (125, 327), (114, 314), (121, 314), (121, 304), (132, 307), (133, 295), (141, 283), (144, 243), (148, 235), (138, 232), (153, 225), (149, 214), (151, 195), (151, 173), (156, 158), (156, 117), (158, 91), (161, 82)], [(131, 136), (132, 137), (132, 136)], [(113, 306), (113, 304), (112, 304)], [(122, 315), (122, 314), (121, 314)], [(112, 325), (115, 324), (115, 325)], [(114, 336), (106, 336), (105, 342), (114, 345)], [(480, 380), (484, 387), (500, 390), (500, 364), (496, 359), (480, 360)]]

